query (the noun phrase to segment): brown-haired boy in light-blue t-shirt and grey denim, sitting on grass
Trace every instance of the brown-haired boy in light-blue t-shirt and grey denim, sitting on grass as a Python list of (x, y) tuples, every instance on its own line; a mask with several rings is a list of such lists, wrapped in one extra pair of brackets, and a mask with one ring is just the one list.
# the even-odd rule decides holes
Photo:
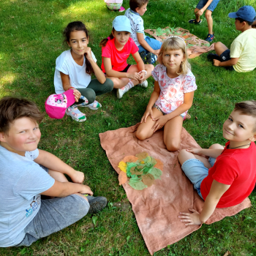
[(42, 117), (26, 99), (0, 100), (0, 247), (30, 246), (107, 204), (92, 197), (82, 172), (37, 149)]

